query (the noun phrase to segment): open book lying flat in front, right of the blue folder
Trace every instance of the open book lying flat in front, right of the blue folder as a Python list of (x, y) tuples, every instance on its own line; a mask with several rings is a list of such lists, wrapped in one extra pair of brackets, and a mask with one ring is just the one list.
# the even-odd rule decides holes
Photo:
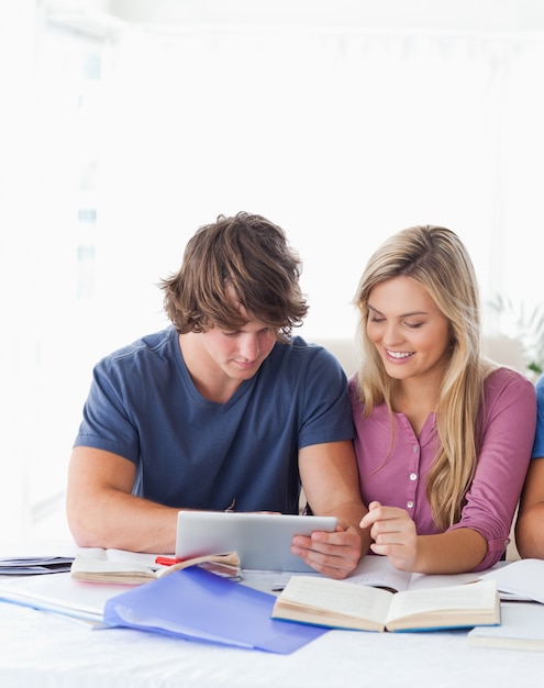
[(391, 592), (293, 576), (276, 600), (273, 618), (359, 631), (470, 628), (500, 623), (500, 599), (492, 580)]

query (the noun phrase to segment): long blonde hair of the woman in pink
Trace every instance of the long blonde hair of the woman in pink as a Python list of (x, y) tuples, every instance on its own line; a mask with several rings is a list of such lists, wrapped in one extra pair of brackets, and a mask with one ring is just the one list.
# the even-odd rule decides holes
[[(443, 530), (460, 518), (465, 493), (476, 470), (477, 417), (490, 364), (480, 354), (480, 317), (476, 275), (458, 236), (441, 226), (413, 226), (387, 240), (369, 259), (355, 303), (360, 311), (363, 360), (358, 391), (369, 415), (379, 403), (391, 414), (391, 379), (366, 333), (368, 298), (376, 285), (406, 276), (420, 284), (449, 323), (449, 359), (436, 406), (440, 448), (428, 478), (428, 499)], [(392, 426), (392, 425), (391, 425)]]

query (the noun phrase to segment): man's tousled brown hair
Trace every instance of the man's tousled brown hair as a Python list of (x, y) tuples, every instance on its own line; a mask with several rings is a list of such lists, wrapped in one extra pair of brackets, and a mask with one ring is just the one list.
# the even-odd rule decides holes
[(162, 281), (165, 310), (177, 332), (186, 334), (212, 325), (241, 328), (243, 306), (251, 319), (284, 339), (308, 312), (301, 270), (281, 228), (246, 212), (219, 215), (189, 240), (179, 271)]

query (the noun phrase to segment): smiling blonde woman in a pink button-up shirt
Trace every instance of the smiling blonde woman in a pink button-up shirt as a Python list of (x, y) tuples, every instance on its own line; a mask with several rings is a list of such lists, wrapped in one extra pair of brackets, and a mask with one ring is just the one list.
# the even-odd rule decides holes
[(481, 570), (504, 554), (531, 456), (534, 387), (480, 353), (478, 290), (457, 235), (414, 226), (370, 258), (349, 380), (375, 554), (402, 570)]

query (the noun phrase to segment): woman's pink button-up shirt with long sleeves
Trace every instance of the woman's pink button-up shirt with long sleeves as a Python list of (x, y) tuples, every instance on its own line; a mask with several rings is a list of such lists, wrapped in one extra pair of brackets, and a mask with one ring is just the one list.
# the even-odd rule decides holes
[[(391, 424), (385, 403), (369, 418), (364, 417), (356, 375), (349, 379), (349, 391), (363, 501), (406, 509), (420, 535), (441, 532), (426, 498), (429, 470), (438, 447), (435, 414), (429, 415), (418, 437), (402, 413), (395, 413)], [(477, 423), (481, 448), (476, 475), (460, 520), (451, 526), (471, 528), (486, 540), (488, 553), (478, 569), (496, 564), (506, 548), (536, 425), (534, 386), (519, 373), (508, 368), (491, 373), (484, 397)]]

